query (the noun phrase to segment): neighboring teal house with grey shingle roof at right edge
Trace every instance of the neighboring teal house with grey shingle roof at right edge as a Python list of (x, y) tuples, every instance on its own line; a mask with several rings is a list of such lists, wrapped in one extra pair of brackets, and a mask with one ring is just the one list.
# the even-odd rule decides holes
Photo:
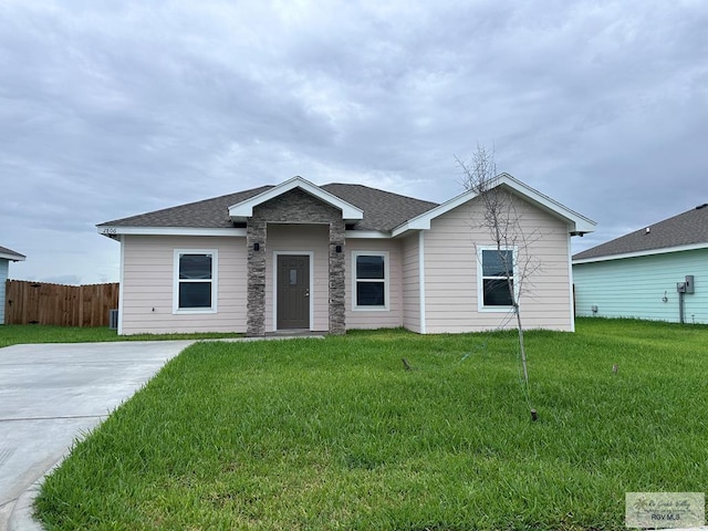
[(575, 314), (708, 323), (708, 204), (573, 257)]

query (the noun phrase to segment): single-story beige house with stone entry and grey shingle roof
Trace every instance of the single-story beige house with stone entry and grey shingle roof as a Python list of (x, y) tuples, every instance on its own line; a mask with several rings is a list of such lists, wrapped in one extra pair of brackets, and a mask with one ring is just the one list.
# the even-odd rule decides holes
[[(570, 239), (595, 223), (508, 174), (494, 187), (542, 235), (525, 325), (573, 331)], [(512, 321), (509, 302), (483, 292), (499, 280), (480, 209), (473, 191), (438, 205), (294, 177), (97, 230), (121, 242), (121, 334), (468, 332)]]

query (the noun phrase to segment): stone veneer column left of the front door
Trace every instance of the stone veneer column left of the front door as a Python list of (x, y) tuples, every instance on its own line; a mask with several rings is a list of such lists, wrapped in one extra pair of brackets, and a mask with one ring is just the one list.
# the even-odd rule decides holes
[[(266, 221), (250, 219), (246, 228), (248, 248), (248, 299), (246, 334), (266, 335)], [(253, 243), (260, 249), (253, 250)]]

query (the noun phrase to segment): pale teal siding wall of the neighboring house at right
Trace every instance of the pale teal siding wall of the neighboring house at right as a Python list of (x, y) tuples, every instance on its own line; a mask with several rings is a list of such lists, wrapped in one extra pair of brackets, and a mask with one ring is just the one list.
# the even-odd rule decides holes
[(576, 314), (679, 322), (676, 284), (687, 274), (685, 321), (708, 323), (708, 249), (574, 264)]

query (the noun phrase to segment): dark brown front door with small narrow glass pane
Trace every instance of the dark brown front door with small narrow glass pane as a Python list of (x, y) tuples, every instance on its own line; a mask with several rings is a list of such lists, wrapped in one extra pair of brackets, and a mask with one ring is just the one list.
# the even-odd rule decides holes
[(310, 257), (278, 257), (278, 330), (310, 327)]

